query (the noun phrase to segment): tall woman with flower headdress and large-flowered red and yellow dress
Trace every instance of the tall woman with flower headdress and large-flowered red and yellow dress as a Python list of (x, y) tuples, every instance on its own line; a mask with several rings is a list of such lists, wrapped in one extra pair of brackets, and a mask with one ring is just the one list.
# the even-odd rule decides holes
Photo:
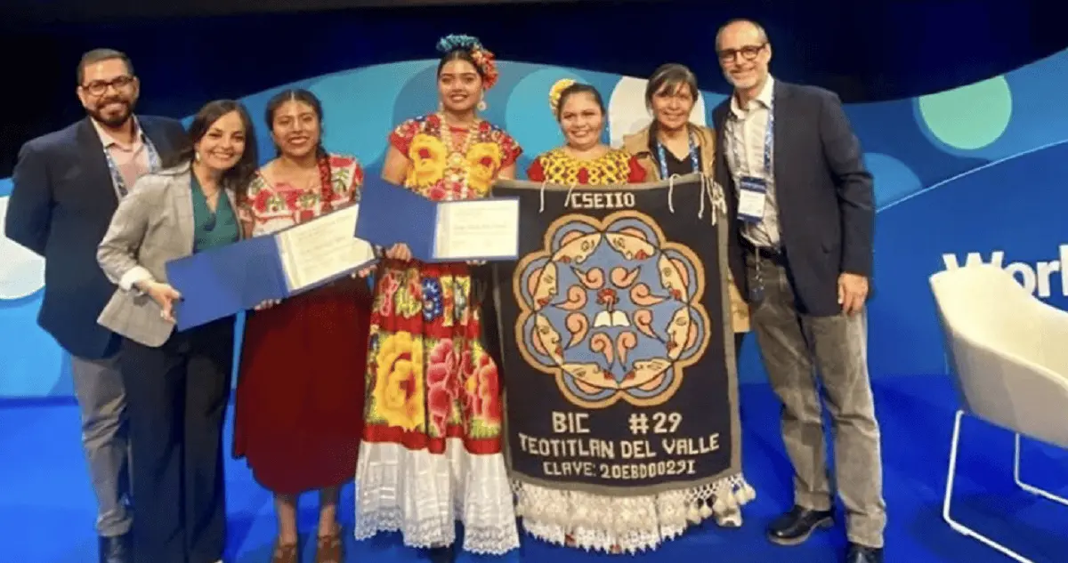
[[(382, 177), (435, 200), (485, 197), (514, 178), (522, 149), (477, 117), (497, 79), (473, 37), (438, 44), (441, 110), (390, 134)], [(357, 538), (399, 530), (409, 546), (450, 559), (464, 548), (519, 546), (501, 453), (497, 365), (481, 341), (485, 293), (466, 263), (421, 263), (403, 244), (377, 266), (367, 357), (367, 406), (357, 466)]]

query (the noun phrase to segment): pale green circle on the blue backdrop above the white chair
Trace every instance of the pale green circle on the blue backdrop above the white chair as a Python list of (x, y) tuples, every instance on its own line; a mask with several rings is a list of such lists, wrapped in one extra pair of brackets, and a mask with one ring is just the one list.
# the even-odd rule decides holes
[(1012, 117), (1012, 91), (1004, 76), (922, 96), (916, 103), (931, 134), (961, 150), (993, 143)]

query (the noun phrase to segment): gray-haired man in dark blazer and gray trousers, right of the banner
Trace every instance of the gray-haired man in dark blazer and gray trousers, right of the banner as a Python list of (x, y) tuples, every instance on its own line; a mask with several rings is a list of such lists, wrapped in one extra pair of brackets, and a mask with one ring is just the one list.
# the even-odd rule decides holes
[(769, 75), (771, 44), (759, 25), (731, 21), (716, 49), (735, 89), (712, 114), (716, 174), (738, 225), (732, 270), (745, 284), (795, 472), (795, 505), (768, 536), (796, 545), (833, 522), (818, 370), (834, 424), (846, 561), (881, 562), (886, 506), (864, 316), (871, 175), (837, 96)]

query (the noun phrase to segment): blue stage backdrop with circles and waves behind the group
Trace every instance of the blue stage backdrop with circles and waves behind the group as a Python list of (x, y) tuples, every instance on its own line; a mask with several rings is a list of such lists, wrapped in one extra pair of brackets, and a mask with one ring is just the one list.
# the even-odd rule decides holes
[[(436, 61), (409, 61), (302, 80), (244, 99), (262, 123), (279, 90), (308, 87), (326, 111), (326, 144), (356, 155), (377, 174), (391, 128), (436, 107)], [(609, 136), (644, 126), (644, 79), (577, 68), (503, 62), (487, 98), (487, 118), (525, 149), (525, 167), (562, 143), (549, 87), (562, 78), (593, 84), (609, 100)], [(848, 106), (876, 178), (877, 296), (869, 307), (875, 376), (943, 373), (945, 360), (927, 278), (946, 268), (994, 262), (1063, 307), (1068, 301), (1068, 239), (1061, 190), (1068, 172), (1068, 51), (963, 87), (918, 98)], [(704, 93), (709, 114), (722, 94)], [(272, 155), (260, 130), (261, 154)], [(11, 181), (0, 180), (0, 215)], [(69, 361), (35, 322), (44, 264), (0, 239), (0, 397), (72, 395)], [(1068, 266), (1068, 264), (1065, 264)], [(753, 339), (743, 381), (764, 379)]]

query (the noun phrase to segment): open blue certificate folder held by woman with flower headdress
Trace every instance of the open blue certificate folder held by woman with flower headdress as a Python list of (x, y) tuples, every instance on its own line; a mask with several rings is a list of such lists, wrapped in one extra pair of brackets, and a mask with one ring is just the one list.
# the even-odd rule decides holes
[[(442, 247), (438, 240), (443, 222), (457, 208), (450, 206), (493, 205), (494, 219), (507, 228), (504, 244), (500, 244), (501, 234), (492, 237), (497, 244), (494, 252), (487, 255), (476, 252), (471, 256), (440, 256)], [(497, 209), (497, 208), (500, 209)], [(513, 260), (519, 252), (519, 198), (493, 197), (459, 202), (433, 202), (411, 190), (393, 186), (383, 180), (368, 181), (363, 186), (360, 197), (360, 220), (356, 224), (356, 237), (372, 244), (388, 248), (395, 243), (404, 243), (411, 250), (412, 257), (423, 262), (451, 262), (459, 260)], [(485, 248), (480, 248), (485, 250)]]

